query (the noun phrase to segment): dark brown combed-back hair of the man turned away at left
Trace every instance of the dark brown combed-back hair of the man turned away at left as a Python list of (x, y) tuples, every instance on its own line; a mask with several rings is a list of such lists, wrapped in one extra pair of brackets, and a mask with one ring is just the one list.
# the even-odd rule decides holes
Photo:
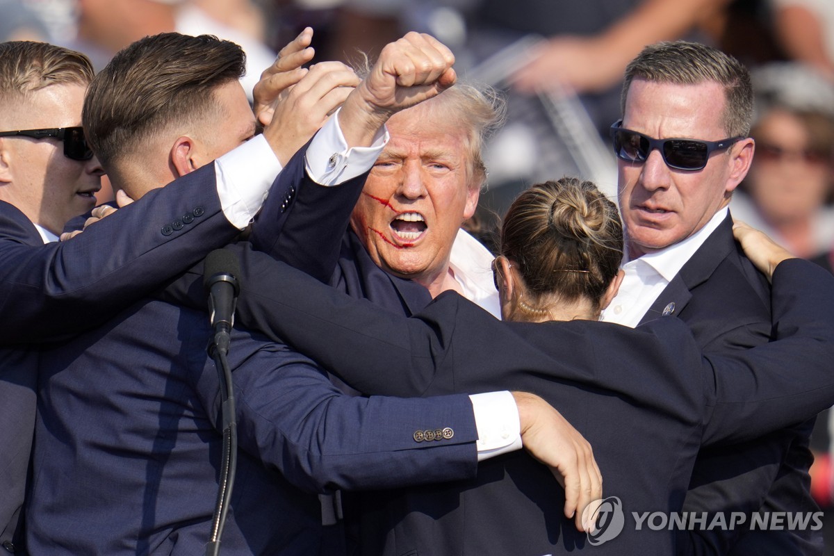
[(237, 44), (211, 35), (161, 33), (123, 48), (84, 100), (84, 132), (99, 161), (107, 168), (160, 128), (217, 113), (214, 91), (241, 78), (245, 63)]

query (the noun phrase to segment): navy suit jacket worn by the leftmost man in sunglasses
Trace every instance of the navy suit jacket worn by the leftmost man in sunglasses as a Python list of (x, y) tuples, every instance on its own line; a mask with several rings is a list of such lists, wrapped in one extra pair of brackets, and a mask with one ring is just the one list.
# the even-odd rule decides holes
[(0, 202), (0, 546), (23, 552), (33, 344), (103, 322), (238, 233), (220, 208), (212, 164), (68, 242), (44, 245), (23, 213)]

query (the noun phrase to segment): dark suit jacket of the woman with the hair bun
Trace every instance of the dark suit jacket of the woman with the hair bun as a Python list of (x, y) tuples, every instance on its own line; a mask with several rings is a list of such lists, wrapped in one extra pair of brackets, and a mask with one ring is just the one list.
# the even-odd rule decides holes
[[(431, 395), (496, 387), (539, 393), (597, 448), (625, 531), (600, 553), (671, 553), (675, 532), (636, 532), (631, 512), (680, 511), (701, 445), (758, 438), (825, 408), (834, 393), (834, 280), (804, 261), (774, 278), (780, 335), (701, 361), (680, 319), (500, 323), (455, 293), (414, 318), (345, 297), (249, 253), (239, 317), (287, 338), (364, 392)], [(277, 283), (279, 288), (266, 288)], [(794, 371), (795, 368), (801, 371)], [(755, 370), (752, 370), (755, 369)], [(561, 517), (550, 473), (524, 453), (480, 463), (465, 483), (364, 494), (363, 553), (556, 553), (587, 545)]]

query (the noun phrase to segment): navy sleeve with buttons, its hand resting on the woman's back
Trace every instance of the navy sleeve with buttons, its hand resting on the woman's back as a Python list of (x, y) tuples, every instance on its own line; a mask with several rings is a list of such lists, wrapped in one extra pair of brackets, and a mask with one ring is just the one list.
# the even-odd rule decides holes
[[(309, 359), (245, 332), (234, 334), (229, 357), (240, 448), (299, 488), (392, 488), (475, 476), (478, 437), (465, 395), (352, 397)], [(198, 392), (220, 430), (218, 373), (210, 360)], [(429, 428), (454, 434), (414, 440), (415, 431)]]

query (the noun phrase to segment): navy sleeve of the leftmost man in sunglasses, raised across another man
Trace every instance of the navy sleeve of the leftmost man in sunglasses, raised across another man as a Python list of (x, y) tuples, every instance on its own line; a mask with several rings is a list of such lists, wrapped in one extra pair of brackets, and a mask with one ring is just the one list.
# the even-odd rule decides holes
[(0, 211), (0, 334), (34, 343), (91, 328), (239, 233), (220, 207), (214, 164), (43, 245), (32, 223)]

